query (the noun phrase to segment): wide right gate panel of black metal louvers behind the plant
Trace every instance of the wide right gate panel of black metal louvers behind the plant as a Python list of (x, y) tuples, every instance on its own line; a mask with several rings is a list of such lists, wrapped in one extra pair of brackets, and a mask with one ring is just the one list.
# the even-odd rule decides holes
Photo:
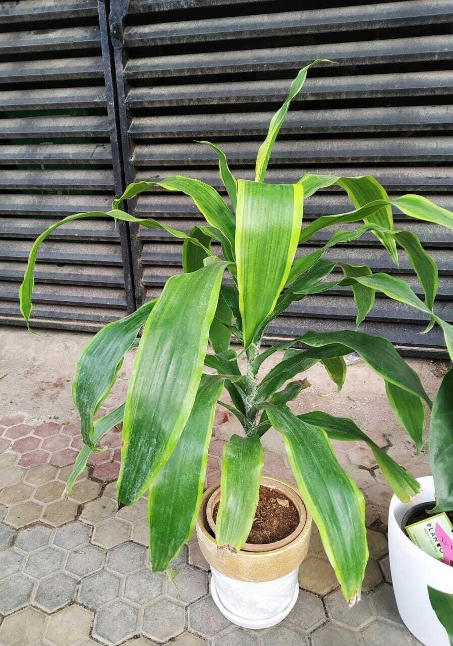
[[(219, 144), (237, 176), (252, 178), (257, 148), (290, 79), (312, 59), (328, 57), (341, 65), (310, 71), (267, 180), (371, 173), (390, 195), (423, 192), (453, 209), (451, 0), (304, 3), (303, 11), (293, 10), (295, 4), (132, 0), (123, 32), (116, 31), (115, 59), (127, 180), (183, 173), (223, 191), (217, 158), (194, 143), (199, 138)], [(344, 193), (328, 189), (307, 200), (304, 217), (349, 209)], [(185, 231), (199, 222), (189, 198), (157, 191), (140, 196), (134, 213)], [(453, 234), (398, 213), (395, 221), (417, 233), (438, 263), (438, 311), (452, 322)], [(331, 233), (319, 232), (311, 244), (323, 244)], [(180, 271), (181, 245), (161, 231), (132, 231), (132, 249), (140, 302)], [(404, 276), (420, 294), (404, 254), (395, 269), (372, 235), (327, 256)], [(294, 305), (270, 334), (354, 329), (354, 319), (352, 298), (336, 289)], [(438, 329), (419, 335), (424, 323), (413, 309), (379, 297), (362, 329), (426, 355), (443, 340)]]

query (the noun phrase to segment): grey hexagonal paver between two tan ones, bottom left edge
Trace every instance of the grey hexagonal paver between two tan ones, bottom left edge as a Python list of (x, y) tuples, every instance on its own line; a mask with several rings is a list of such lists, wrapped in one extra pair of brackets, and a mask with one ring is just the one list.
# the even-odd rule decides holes
[(116, 645), (137, 632), (138, 610), (132, 606), (115, 601), (96, 612), (93, 637)]

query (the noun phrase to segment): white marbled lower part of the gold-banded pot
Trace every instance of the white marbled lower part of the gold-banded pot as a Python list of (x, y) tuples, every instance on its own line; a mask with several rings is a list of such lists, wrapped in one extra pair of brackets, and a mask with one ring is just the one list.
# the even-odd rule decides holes
[[(290, 613), (297, 601), (299, 568), (273, 581), (237, 581), (211, 568), (211, 596), (221, 613), (243, 628), (268, 628)], [(244, 616), (247, 614), (247, 616)]]

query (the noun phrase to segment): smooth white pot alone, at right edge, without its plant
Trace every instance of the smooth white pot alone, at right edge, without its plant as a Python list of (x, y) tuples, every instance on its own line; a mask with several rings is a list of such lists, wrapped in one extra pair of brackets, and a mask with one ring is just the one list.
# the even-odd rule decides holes
[(453, 594), (453, 568), (425, 554), (401, 530), (403, 516), (411, 507), (434, 500), (431, 476), (418, 478), (421, 493), (413, 503), (401, 503), (394, 495), (388, 510), (390, 570), (401, 619), (425, 646), (450, 646), (445, 628), (431, 607), (427, 586)]

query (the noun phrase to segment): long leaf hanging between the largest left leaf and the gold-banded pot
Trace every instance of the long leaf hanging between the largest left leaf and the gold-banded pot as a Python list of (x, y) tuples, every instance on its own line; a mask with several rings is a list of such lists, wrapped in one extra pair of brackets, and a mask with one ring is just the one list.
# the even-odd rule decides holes
[(203, 375), (181, 437), (150, 486), (148, 521), (153, 572), (163, 572), (192, 536), (205, 485), (208, 448), (222, 377)]

